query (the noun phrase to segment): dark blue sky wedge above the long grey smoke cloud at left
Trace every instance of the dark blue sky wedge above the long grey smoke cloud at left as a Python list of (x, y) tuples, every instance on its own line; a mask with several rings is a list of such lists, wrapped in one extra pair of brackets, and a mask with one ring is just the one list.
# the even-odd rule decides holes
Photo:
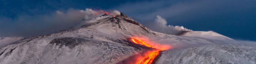
[(44, 15), (56, 10), (68, 10), (70, 8), (81, 9), (110, 9), (126, 2), (138, 2), (139, 0), (1, 0), (0, 16), (15, 18), (19, 15)]

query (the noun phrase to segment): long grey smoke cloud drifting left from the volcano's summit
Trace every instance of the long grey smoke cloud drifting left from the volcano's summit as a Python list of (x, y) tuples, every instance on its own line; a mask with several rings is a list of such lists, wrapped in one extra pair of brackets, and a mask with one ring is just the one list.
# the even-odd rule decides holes
[[(0, 36), (35, 36), (72, 28), (82, 20), (93, 19), (105, 11), (92, 9), (55, 11), (49, 15), (20, 15), (17, 18), (0, 17)], [(119, 11), (112, 11), (117, 15)], [(120, 13), (119, 13), (120, 14)], [(83, 23), (86, 24), (86, 23)]]

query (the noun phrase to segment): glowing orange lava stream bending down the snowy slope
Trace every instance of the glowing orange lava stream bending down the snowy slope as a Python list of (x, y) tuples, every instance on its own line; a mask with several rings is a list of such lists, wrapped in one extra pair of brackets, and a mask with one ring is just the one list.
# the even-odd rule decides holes
[(157, 43), (143, 41), (138, 38), (131, 38), (131, 41), (133, 41), (136, 44), (145, 45), (147, 47), (157, 49), (157, 50), (153, 50), (151, 53), (148, 54), (148, 56), (141, 59), (137, 64), (151, 64), (153, 60), (156, 58), (156, 56), (159, 54), (159, 51), (170, 49), (169, 45), (159, 45)]

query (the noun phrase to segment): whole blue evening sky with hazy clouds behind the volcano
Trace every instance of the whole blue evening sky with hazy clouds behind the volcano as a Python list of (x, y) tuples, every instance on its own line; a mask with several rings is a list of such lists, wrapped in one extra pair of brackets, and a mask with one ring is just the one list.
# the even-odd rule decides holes
[(0, 36), (26, 37), (64, 30), (81, 20), (77, 11), (90, 8), (118, 10), (146, 27), (159, 15), (167, 25), (256, 41), (255, 3), (256, 0), (1, 0)]

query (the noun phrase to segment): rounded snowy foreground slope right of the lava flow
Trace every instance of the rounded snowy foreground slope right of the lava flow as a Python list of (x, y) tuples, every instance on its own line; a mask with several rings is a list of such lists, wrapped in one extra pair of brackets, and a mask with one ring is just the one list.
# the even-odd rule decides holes
[(255, 53), (250, 45), (203, 45), (163, 51), (156, 64), (255, 64)]

